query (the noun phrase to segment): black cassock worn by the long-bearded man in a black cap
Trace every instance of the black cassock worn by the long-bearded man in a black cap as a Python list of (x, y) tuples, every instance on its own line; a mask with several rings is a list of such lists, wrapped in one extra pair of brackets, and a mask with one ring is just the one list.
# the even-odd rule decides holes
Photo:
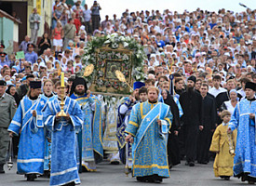
[(182, 105), (182, 132), (184, 135), (185, 155), (187, 162), (195, 162), (196, 145), (198, 138), (199, 126), (202, 125), (202, 97), (193, 91), (185, 91), (180, 96)]

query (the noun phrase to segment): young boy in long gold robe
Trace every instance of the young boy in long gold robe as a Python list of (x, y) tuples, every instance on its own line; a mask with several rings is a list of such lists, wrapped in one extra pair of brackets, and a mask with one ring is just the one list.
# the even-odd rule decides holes
[(222, 111), (221, 118), (222, 124), (216, 128), (213, 134), (209, 151), (216, 153), (213, 164), (215, 177), (229, 180), (233, 176), (237, 131), (235, 130), (232, 134), (227, 134), (231, 113), (227, 110)]

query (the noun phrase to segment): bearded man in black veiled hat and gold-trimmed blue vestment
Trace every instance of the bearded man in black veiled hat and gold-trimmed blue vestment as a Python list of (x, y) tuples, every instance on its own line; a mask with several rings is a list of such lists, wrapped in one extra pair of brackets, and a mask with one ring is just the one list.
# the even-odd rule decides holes
[(76, 77), (70, 98), (77, 101), (84, 115), (83, 129), (78, 133), (79, 160), (82, 170), (96, 171), (96, 163), (103, 158), (101, 101), (90, 95), (83, 77)]

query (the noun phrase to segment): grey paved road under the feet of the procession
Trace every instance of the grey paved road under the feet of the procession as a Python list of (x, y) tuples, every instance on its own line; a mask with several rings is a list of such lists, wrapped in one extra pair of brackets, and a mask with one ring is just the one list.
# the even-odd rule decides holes
[[(7, 170), (7, 167), (5, 166)], [(36, 179), (33, 182), (28, 182), (23, 176), (16, 174), (16, 165), (6, 174), (0, 175), (0, 186), (41, 186), (48, 185), (49, 180), (44, 178)], [(98, 165), (97, 172), (80, 174), (82, 181), (81, 185), (95, 186), (141, 186), (154, 185), (153, 183), (141, 183), (135, 179), (126, 177), (124, 174), (123, 165), (110, 165), (108, 162), (103, 162)], [(159, 185), (159, 184), (157, 184)], [(174, 166), (170, 171), (170, 178), (164, 179), (162, 185), (184, 185), (184, 186), (225, 186), (225, 185), (248, 185), (241, 182), (239, 179), (231, 178), (226, 181), (215, 178), (212, 169), (212, 162), (209, 165), (195, 165), (194, 167), (184, 166), (182, 162), (179, 166)]]

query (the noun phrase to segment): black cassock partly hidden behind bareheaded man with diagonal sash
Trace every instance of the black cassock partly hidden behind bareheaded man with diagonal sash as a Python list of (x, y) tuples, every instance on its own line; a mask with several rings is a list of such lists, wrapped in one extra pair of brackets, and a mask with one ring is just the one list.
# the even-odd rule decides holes
[(164, 100), (170, 107), (170, 112), (173, 115), (173, 120), (168, 134), (168, 165), (176, 166), (181, 164), (180, 151), (179, 151), (179, 139), (174, 134), (174, 131), (179, 129), (181, 126), (179, 108), (173, 97), (168, 93), (168, 98)]

